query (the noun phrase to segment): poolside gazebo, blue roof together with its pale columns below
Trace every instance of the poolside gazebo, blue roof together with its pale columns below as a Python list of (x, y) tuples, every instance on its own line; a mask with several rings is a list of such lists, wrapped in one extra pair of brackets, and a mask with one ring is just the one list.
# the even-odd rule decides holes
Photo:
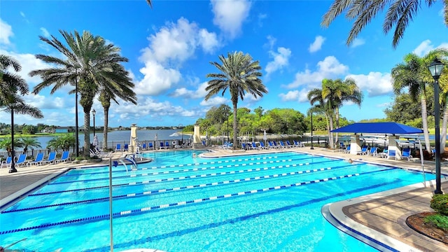
[(334, 133), (353, 133), (351, 136), (350, 153), (357, 154), (361, 150), (360, 135), (358, 133), (370, 133), (370, 134), (389, 134), (388, 135), (388, 149), (395, 150), (397, 158), (401, 158), (401, 150), (398, 148), (397, 140), (398, 136), (395, 134), (421, 134), (423, 130), (402, 125), (400, 123), (353, 123), (339, 129), (332, 130)]

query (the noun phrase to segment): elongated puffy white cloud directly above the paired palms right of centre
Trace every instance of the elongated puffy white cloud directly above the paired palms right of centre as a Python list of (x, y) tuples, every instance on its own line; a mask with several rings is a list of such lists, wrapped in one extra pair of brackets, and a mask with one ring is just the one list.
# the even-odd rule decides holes
[(309, 69), (305, 69), (305, 71), (295, 73), (295, 80), (286, 87), (292, 89), (301, 85), (316, 85), (321, 83), (324, 78), (335, 78), (348, 71), (349, 66), (339, 63), (334, 56), (328, 56), (317, 63), (316, 71), (311, 72)]

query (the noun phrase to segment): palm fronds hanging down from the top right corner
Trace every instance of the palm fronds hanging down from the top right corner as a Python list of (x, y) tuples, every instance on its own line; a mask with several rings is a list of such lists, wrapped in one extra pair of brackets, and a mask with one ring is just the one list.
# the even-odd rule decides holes
[[(434, 2), (433, 0), (425, 1), (428, 7), (432, 6)], [(445, 24), (448, 25), (447, 3), (448, 1), (444, 1), (444, 19)], [(420, 5), (421, 1), (415, 0), (335, 0), (327, 13), (323, 15), (321, 25), (328, 28), (338, 15), (346, 13), (346, 18), (355, 20), (346, 41), (346, 44), (350, 45), (360, 31), (372, 21), (372, 18), (375, 18), (377, 14), (381, 13), (388, 6), (386, 16), (384, 17), (383, 31), (387, 34), (395, 26), (392, 45), (393, 48), (396, 48), (405, 34), (409, 21), (412, 21), (412, 18), (417, 15)]]

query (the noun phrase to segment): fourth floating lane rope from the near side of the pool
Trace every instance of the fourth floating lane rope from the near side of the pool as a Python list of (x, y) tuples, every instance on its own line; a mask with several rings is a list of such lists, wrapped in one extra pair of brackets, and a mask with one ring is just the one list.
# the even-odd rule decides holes
[[(249, 166), (249, 165), (267, 165), (267, 164), (274, 164), (279, 162), (294, 162), (295, 159), (288, 159), (288, 160), (275, 160), (275, 161), (265, 161), (265, 162), (251, 162), (248, 164), (236, 164), (236, 165), (220, 165), (215, 167), (202, 167), (202, 168), (192, 168), (192, 169), (182, 169), (182, 170), (174, 170), (174, 171), (165, 171), (165, 172), (153, 172), (153, 173), (144, 173), (144, 174), (130, 174), (126, 176), (114, 176), (112, 179), (129, 179), (129, 178), (136, 178), (140, 176), (153, 176), (153, 175), (162, 175), (162, 174), (171, 174), (171, 173), (181, 173), (181, 172), (198, 172), (198, 171), (205, 171), (209, 169), (224, 169), (224, 168), (232, 168), (232, 167), (239, 167), (239, 166)], [(321, 164), (323, 162), (335, 162), (338, 160), (325, 160), (321, 162), (306, 162), (306, 163), (300, 163), (300, 165), (312, 165), (312, 164)], [(48, 185), (60, 185), (60, 184), (66, 184), (66, 183), (76, 183), (76, 182), (86, 182), (86, 181), (102, 181), (102, 180), (109, 180), (109, 177), (104, 178), (97, 178), (97, 179), (82, 179), (82, 180), (75, 180), (75, 181), (60, 181), (60, 182), (52, 182), (48, 183)]]

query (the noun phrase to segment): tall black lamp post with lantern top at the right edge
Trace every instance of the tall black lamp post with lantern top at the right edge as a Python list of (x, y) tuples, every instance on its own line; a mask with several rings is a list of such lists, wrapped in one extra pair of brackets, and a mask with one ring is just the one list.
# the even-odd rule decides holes
[(439, 104), (439, 77), (444, 64), (435, 58), (428, 66), (434, 78), (434, 120), (435, 120), (435, 194), (442, 194), (440, 186), (440, 104)]

